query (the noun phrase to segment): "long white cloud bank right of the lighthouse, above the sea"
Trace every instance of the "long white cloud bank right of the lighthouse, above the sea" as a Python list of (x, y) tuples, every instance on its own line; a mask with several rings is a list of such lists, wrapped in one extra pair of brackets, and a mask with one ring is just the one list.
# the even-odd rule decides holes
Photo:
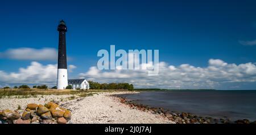
[(106, 71), (90, 67), (89, 71), (80, 73), (80, 77), (98, 82), (130, 82), (137, 88), (217, 89), (227, 83), (256, 82), (256, 66), (253, 63), (228, 64), (220, 59), (209, 59), (208, 67), (160, 62), (158, 76), (147, 76), (144, 70)]

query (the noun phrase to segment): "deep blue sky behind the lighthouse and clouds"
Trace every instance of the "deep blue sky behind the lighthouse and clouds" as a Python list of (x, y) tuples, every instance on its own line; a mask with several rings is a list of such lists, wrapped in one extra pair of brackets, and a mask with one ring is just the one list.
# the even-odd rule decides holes
[[(61, 19), (68, 27), (68, 64), (76, 66), (69, 72), (70, 78), (81, 77), (81, 73), (85, 78), (89, 76), (86, 72), (96, 66), (99, 59), (97, 51), (109, 50), (110, 45), (124, 50), (158, 49), (159, 61), (175, 67), (189, 64), (207, 68), (209, 59), (255, 66), (255, 7), (255, 1), (3, 1), (0, 6), (0, 71), (8, 77), (11, 72), (18, 73), (21, 67), (27, 68), (31, 62), (43, 66), (56, 64), (57, 59), (20, 60), (3, 54), (21, 47), (57, 49), (57, 24)], [(234, 82), (234, 79), (232, 83), (205, 88), (255, 89), (255, 76), (246, 74), (243, 77), (250, 77), (247, 81)], [(131, 82), (130, 79), (122, 81)], [(1, 86), (12, 85), (3, 79), (0, 82)], [(175, 82), (174, 87), (146, 84), (138, 87), (176, 88)], [(182, 84), (179, 88), (189, 88)]]

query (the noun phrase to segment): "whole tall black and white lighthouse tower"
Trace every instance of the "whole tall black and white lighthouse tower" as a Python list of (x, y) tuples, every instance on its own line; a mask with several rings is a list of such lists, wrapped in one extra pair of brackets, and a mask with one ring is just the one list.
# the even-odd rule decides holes
[(68, 86), (67, 53), (66, 53), (67, 27), (63, 20), (60, 21), (57, 31), (59, 31), (57, 89), (65, 89)]

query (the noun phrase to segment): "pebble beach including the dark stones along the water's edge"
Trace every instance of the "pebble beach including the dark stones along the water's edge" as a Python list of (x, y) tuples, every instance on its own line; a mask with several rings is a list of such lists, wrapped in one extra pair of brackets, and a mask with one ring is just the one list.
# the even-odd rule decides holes
[[(164, 108), (155, 108), (131, 102), (120, 97), (121, 94), (135, 94), (139, 92), (97, 92), (93, 95), (80, 97), (79, 95), (36, 95), (36, 97), (16, 98), (10, 96), (0, 99), (0, 110), (15, 110), (18, 106), (24, 108), (28, 103), (45, 104), (55, 102), (60, 107), (71, 111), (72, 117), (68, 124), (212, 124), (234, 123), (228, 119), (213, 119), (200, 117), (190, 113), (174, 113)], [(72, 97), (72, 98), (71, 98)], [(254, 121), (255, 123), (256, 121)], [(249, 123), (239, 120), (236, 123)]]

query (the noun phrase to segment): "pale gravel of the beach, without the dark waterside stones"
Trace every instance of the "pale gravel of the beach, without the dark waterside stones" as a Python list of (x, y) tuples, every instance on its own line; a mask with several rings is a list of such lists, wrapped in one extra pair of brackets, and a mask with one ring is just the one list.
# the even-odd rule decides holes
[[(119, 92), (123, 94), (127, 92)], [(69, 123), (174, 123), (151, 112), (131, 109), (117, 98), (110, 96), (117, 93), (98, 93), (90, 97), (79, 97), (68, 100), (71, 95), (39, 95), (37, 98), (1, 98), (0, 110), (16, 110), (20, 105), (25, 108), (28, 103), (44, 104), (52, 99), (60, 106), (72, 112)], [(61, 100), (62, 99), (62, 100)]]

